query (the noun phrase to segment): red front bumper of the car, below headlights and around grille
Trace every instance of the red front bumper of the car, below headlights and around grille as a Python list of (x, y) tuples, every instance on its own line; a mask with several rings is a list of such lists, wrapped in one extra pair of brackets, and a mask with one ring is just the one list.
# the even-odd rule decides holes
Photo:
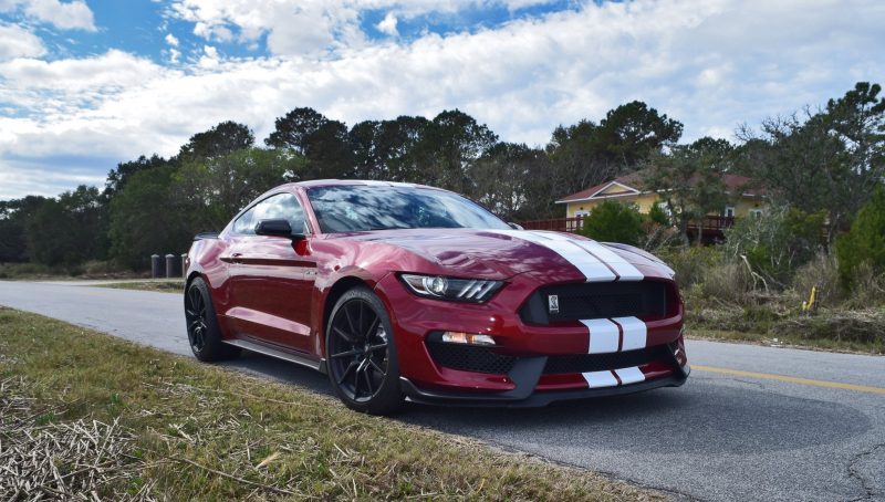
[[(382, 280), (376, 291), (394, 324), (403, 393), (425, 404), (533, 407), (686, 381), (689, 367), (680, 333), (681, 307), (667, 318), (645, 323), (646, 347), (657, 354), (654, 360), (577, 373), (551, 370), (563, 358), (586, 356), (590, 334), (579, 322), (555, 326), (523, 323), (518, 314), (521, 303), (538, 285), (531, 278), (516, 276), (490, 302), (477, 305), (419, 299), (393, 274)], [(442, 365), (428, 345), (430, 334), (441, 331), (491, 335), (498, 344), (494, 352), (510, 358), (512, 365), (497, 373)]]

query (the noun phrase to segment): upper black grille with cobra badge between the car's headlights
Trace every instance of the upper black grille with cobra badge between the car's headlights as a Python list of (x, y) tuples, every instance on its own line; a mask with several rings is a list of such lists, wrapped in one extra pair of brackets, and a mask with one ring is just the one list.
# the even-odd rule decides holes
[[(541, 287), (520, 311), (529, 324), (604, 317), (663, 316), (669, 287), (660, 281), (591, 282)], [(556, 296), (558, 310), (551, 308)]]

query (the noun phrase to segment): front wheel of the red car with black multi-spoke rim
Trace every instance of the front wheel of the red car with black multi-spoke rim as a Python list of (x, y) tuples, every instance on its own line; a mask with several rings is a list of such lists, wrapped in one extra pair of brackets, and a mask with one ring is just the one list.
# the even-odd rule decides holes
[(344, 293), (326, 326), (329, 379), (339, 398), (356, 411), (391, 415), (403, 405), (393, 325), (368, 287)]

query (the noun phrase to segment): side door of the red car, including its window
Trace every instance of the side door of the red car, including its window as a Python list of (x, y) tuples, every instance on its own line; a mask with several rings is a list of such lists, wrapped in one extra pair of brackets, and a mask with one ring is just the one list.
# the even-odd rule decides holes
[(254, 227), (264, 219), (285, 219), (294, 232), (306, 231), (304, 210), (289, 192), (259, 201), (235, 221), (229, 254), (235, 306), (227, 315), (239, 336), (309, 353), (311, 292), (316, 273), (310, 237), (257, 236)]

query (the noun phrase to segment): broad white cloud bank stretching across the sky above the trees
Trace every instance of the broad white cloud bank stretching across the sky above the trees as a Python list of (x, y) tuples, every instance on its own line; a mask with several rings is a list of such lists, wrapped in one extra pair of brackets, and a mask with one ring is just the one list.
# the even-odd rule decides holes
[[(249, 24), (250, 4), (219, 1), (215, 13), (200, 11), (190, 22), (205, 22), (207, 38), (216, 25), (233, 29), (238, 39), (269, 33), (258, 20), (266, 19), (262, 8), (253, 8)], [(243, 9), (236, 25), (223, 13), (231, 6)], [(502, 139), (539, 145), (558, 124), (598, 121), (618, 104), (642, 100), (683, 121), (690, 140), (729, 136), (739, 123), (825, 103), (856, 81), (885, 75), (877, 49), (885, 3), (875, 0), (814, 8), (804, 0), (589, 3), (412, 42), (366, 40), (340, 29), (350, 21), (325, 12), (329, 24), (316, 31), (293, 25), (284, 36), (289, 32), (274, 28), (269, 43), (291, 52), (274, 50), (280, 55), (270, 57), (228, 59), (207, 42), (197, 60), (174, 67), (121, 51), (0, 63), (0, 103), (20, 108), (6, 118), (0, 113), (0, 174), (11, 156), (171, 155), (190, 135), (225, 119), (249, 125), (260, 140), (295, 106), (348, 124), (458, 107)]]

